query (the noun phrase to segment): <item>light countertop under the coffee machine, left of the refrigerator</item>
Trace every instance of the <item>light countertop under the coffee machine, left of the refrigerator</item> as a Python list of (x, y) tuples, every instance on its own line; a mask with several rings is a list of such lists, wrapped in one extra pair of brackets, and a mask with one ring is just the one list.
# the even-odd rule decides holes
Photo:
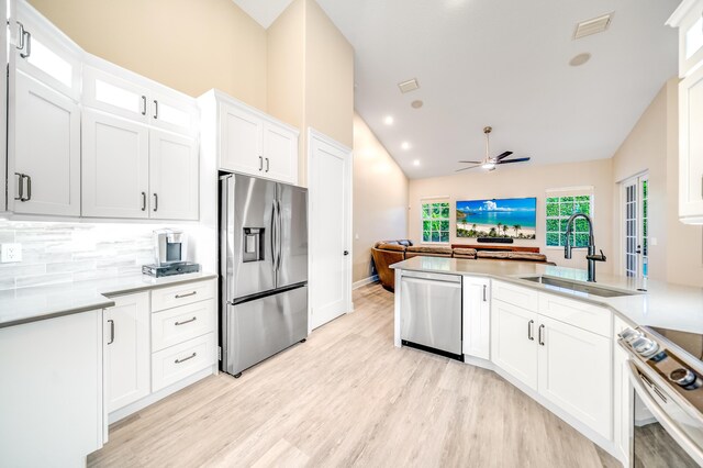
[(0, 291), (0, 328), (114, 305), (110, 297), (216, 278), (194, 272), (166, 278), (137, 274), (118, 278)]

